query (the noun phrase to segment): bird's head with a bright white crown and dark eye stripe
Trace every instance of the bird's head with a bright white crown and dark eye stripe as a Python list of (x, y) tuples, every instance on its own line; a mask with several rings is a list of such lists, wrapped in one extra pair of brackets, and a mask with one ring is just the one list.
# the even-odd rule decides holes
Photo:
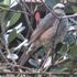
[(57, 3), (53, 7), (53, 11), (56, 13), (56, 14), (64, 14), (65, 10), (65, 6), (63, 3)]

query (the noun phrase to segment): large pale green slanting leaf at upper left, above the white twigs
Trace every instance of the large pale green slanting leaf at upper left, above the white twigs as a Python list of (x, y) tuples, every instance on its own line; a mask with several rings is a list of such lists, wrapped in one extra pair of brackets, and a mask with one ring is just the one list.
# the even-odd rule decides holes
[(7, 28), (12, 26), (13, 24), (15, 24), (18, 22), (18, 20), (20, 19), (21, 13), (13, 13), (12, 18), (9, 20), (10, 24)]

